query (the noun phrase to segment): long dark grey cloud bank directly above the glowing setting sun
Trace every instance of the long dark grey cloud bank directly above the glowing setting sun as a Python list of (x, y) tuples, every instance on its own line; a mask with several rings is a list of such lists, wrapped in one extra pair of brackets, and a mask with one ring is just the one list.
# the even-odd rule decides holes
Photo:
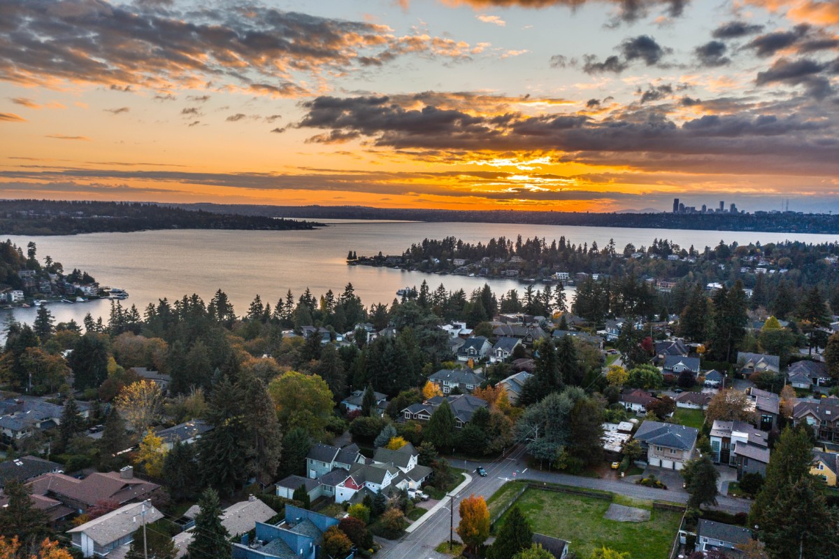
[[(779, 78), (778, 78), (779, 79)], [(668, 91), (670, 88), (670, 91)], [(672, 95), (672, 86), (658, 86), (650, 97)], [(698, 102), (698, 101), (697, 101)], [(814, 162), (836, 170), (836, 118), (839, 109), (779, 103), (779, 113), (745, 109), (731, 115), (711, 115), (675, 123), (656, 107), (624, 108), (600, 121), (583, 115), (529, 117), (519, 112), (475, 116), (437, 107), (406, 108), (389, 97), (317, 97), (303, 104), (305, 117), (297, 128), (326, 132), (310, 142), (328, 144), (347, 138), (369, 138), (373, 146), (403, 150), (433, 150), (465, 155), (475, 152), (565, 152), (569, 160), (616, 158), (654, 168), (657, 160), (706, 160), (740, 157), (749, 161)], [(413, 107), (413, 106), (412, 106)], [(620, 156), (616, 155), (620, 154)]]

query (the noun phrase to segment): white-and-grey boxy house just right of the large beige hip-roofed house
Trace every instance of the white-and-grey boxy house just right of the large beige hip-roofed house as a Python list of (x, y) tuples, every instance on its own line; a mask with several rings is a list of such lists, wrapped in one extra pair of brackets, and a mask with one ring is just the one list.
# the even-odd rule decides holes
[(769, 464), (769, 436), (746, 421), (714, 421), (711, 426), (711, 453), (717, 464), (737, 468), (737, 479), (743, 473), (759, 473), (766, 477)]

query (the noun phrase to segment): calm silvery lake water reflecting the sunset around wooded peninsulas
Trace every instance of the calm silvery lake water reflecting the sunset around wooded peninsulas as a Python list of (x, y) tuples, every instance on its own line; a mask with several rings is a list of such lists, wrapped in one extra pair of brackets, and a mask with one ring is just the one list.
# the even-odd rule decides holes
[[(84, 269), (101, 285), (120, 287), (130, 294), (123, 305), (136, 305), (142, 312), (150, 302), (168, 297), (197, 293), (204, 300), (224, 290), (237, 314), (247, 311), (253, 296), (259, 294), (271, 306), (291, 290), (295, 297), (309, 287), (319, 296), (332, 290), (338, 295), (352, 282), (365, 305), (390, 303), (396, 290), (419, 286), (428, 280), (433, 290), (442, 283), (447, 290), (464, 289), (468, 294), (487, 281), (498, 295), (525, 284), (516, 280), (484, 280), (453, 275), (431, 275), (397, 269), (347, 266), (347, 252), (371, 255), (400, 254), (411, 243), (424, 238), (454, 236), (466, 242), (486, 242), (492, 237), (544, 237), (548, 243), (561, 236), (572, 243), (596, 241), (600, 247), (613, 238), (618, 249), (627, 243), (636, 247), (649, 245), (654, 238), (667, 238), (688, 248), (727, 243), (779, 242), (786, 239), (808, 243), (833, 242), (830, 235), (719, 232), (674, 229), (629, 229), (612, 227), (569, 227), (497, 223), (425, 223), (425, 222), (351, 222), (335, 220), (330, 226), (314, 231), (147, 231), (129, 233), (92, 233), (64, 237), (12, 236), (13, 243), (25, 248), (34, 241), (38, 258), (50, 255), (65, 267)], [(537, 285), (538, 286), (538, 285)], [(571, 294), (569, 294), (571, 295)], [(75, 319), (81, 323), (87, 312), (107, 320), (110, 302), (50, 305), (57, 321)], [(34, 320), (35, 309), (3, 311), (0, 321), (12, 316), (18, 321)]]

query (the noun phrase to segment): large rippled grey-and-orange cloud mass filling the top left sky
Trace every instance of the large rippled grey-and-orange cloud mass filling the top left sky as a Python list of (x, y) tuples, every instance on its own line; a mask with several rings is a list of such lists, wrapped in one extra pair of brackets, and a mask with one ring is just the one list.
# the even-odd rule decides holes
[(343, 70), (362, 55), (463, 55), (452, 51), (453, 39), (420, 33), (397, 38), (378, 24), (259, 3), (199, 6), (185, 11), (107, 0), (4, 0), (0, 79), (26, 86), (82, 81), (114, 91), (223, 79), (290, 96), (301, 91), (286, 85), (294, 72)]

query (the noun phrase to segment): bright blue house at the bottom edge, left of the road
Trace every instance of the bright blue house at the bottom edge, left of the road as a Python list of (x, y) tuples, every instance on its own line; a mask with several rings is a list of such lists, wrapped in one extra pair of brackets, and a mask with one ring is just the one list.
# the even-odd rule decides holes
[[(338, 520), (311, 510), (285, 505), (285, 520), (278, 525), (256, 523), (256, 535), (250, 541), (243, 535), (233, 544), (233, 559), (316, 559), (320, 554), (323, 533)], [(353, 559), (354, 552), (347, 557)]]

